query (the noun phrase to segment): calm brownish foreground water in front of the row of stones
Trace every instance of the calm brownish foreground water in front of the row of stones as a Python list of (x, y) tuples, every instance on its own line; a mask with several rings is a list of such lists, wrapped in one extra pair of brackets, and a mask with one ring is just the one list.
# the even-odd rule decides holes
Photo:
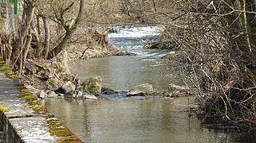
[(204, 129), (187, 112), (187, 99), (85, 101), (47, 99), (45, 106), (85, 142), (233, 142)]

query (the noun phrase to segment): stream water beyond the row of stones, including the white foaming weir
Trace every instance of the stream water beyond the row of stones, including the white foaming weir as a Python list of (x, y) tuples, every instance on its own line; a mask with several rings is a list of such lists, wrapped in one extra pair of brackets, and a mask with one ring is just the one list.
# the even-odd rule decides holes
[(148, 28), (148, 31), (145, 28), (126, 29), (109, 36), (109, 41), (116, 47), (135, 53), (136, 56), (106, 56), (79, 60), (71, 62), (70, 66), (81, 80), (100, 75), (104, 87), (117, 91), (128, 91), (142, 83), (152, 84), (156, 91), (166, 91), (170, 83), (182, 84), (179, 72), (173, 70), (169, 61), (161, 59), (171, 50), (142, 48), (144, 44), (158, 39), (159, 33), (152, 30), (156, 30), (156, 27)]

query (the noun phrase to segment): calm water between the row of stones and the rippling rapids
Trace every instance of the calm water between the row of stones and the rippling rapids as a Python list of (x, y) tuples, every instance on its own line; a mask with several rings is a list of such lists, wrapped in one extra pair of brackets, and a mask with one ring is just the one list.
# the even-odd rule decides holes
[(170, 83), (182, 83), (171, 65), (161, 60), (142, 60), (141, 56), (108, 56), (79, 60), (70, 64), (83, 79), (100, 75), (104, 87), (128, 91), (141, 83), (152, 83), (156, 91), (167, 90)]

